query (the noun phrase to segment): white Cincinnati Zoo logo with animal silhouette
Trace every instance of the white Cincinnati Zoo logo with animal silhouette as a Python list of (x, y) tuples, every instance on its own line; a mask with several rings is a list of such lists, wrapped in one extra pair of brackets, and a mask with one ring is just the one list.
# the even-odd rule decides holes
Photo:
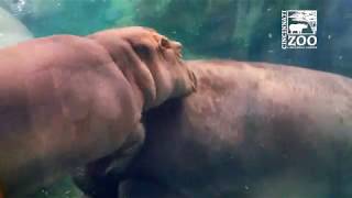
[(317, 10), (282, 11), (282, 48), (317, 48)]

